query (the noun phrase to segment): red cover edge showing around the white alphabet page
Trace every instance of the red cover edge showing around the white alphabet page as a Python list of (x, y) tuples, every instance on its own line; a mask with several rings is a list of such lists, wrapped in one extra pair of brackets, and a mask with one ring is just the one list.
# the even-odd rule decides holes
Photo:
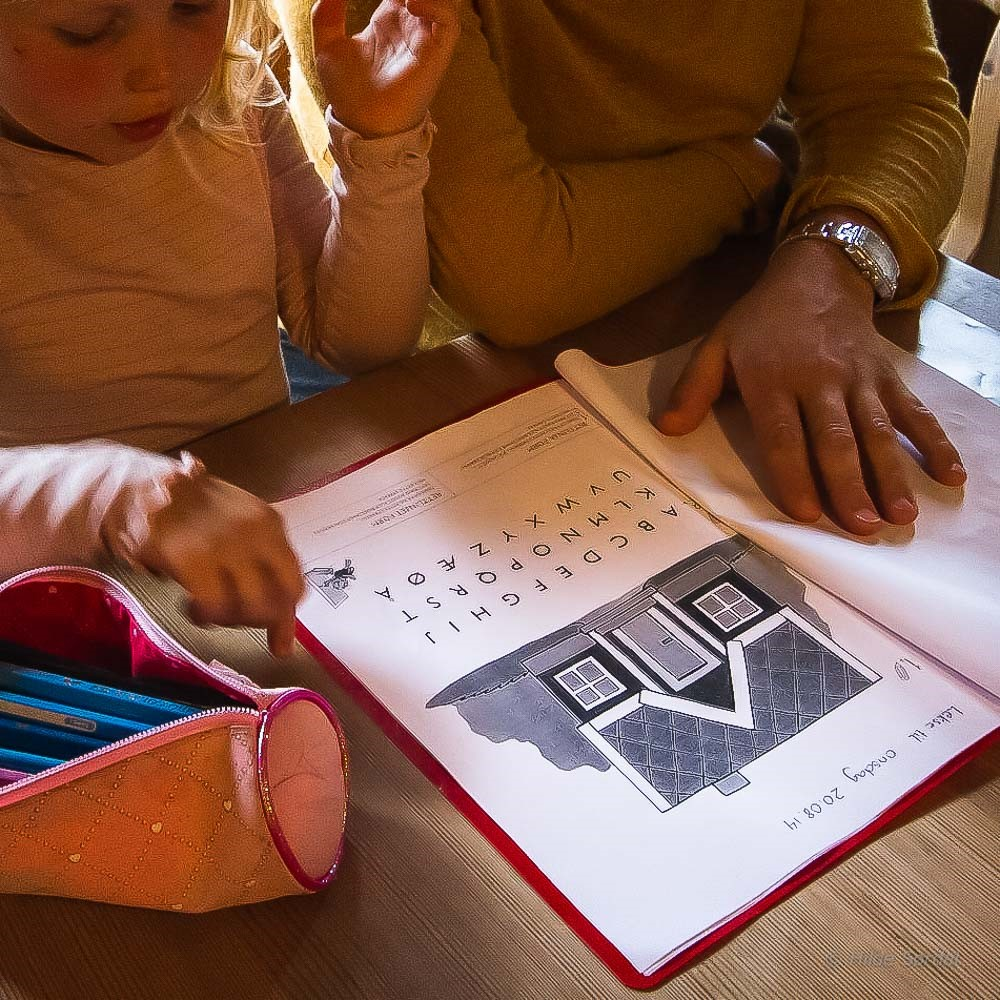
[[(512, 392), (504, 393), (492, 399), (483, 406), (469, 410), (454, 420), (442, 424), (441, 427), (457, 423), (482, 410), (487, 410), (491, 406), (496, 406), (507, 399), (513, 399), (524, 392), (545, 385), (556, 379), (543, 379), (527, 387), (520, 387)], [(441, 428), (435, 428), (440, 430)], [(342, 479), (358, 469), (370, 465), (372, 462), (384, 455), (405, 448), (408, 444), (433, 434), (434, 430), (415, 434), (413, 437), (375, 452), (352, 465), (332, 475), (319, 480), (311, 486), (298, 491), (289, 496), (299, 496), (303, 493), (311, 492), (329, 483)], [(287, 499), (287, 498), (286, 498)], [(622, 982), (623, 985), (632, 989), (648, 990), (659, 986), (684, 966), (688, 965), (702, 952), (707, 951), (713, 945), (719, 943), (729, 935), (734, 934), (741, 927), (748, 924), (754, 918), (760, 916), (765, 910), (770, 909), (776, 903), (781, 902), (790, 896), (797, 889), (807, 882), (811, 882), (827, 868), (832, 867), (846, 854), (859, 847), (869, 837), (874, 836), (883, 827), (888, 826), (897, 816), (905, 812), (914, 802), (922, 798), (933, 788), (937, 787), (954, 774), (960, 767), (967, 764), (974, 757), (979, 756), (990, 746), (1000, 740), (1000, 726), (991, 733), (977, 740), (971, 746), (966, 747), (961, 753), (952, 757), (947, 763), (942, 765), (933, 774), (929, 775), (919, 785), (915, 785), (898, 802), (876, 816), (868, 826), (859, 830), (847, 840), (831, 848), (826, 854), (816, 858), (806, 865), (797, 874), (791, 876), (781, 885), (777, 886), (770, 893), (759, 899), (753, 906), (748, 907), (742, 913), (733, 917), (732, 920), (720, 925), (714, 931), (709, 932), (684, 951), (675, 955), (672, 959), (661, 965), (655, 972), (648, 975), (640, 972), (632, 963), (620, 952), (570, 901), (562, 892), (556, 888), (555, 884), (542, 872), (542, 870), (528, 857), (527, 854), (517, 845), (517, 843), (504, 831), (504, 829), (476, 802), (476, 800), (459, 784), (452, 774), (442, 765), (436, 757), (383, 705), (364, 684), (351, 673), (351, 671), (338, 660), (326, 646), (323, 645), (302, 622), (297, 623), (297, 635), (302, 645), (336, 678), (341, 686), (351, 695), (361, 708), (372, 718), (380, 729), (392, 740), (396, 747), (414, 764), (418, 770), (431, 781), (442, 795), (453, 805), (463, 816), (481, 833), (487, 841), (499, 852), (507, 863), (538, 893), (539, 896), (552, 908), (555, 913), (571, 928), (581, 941), (610, 969), (612, 973)]]

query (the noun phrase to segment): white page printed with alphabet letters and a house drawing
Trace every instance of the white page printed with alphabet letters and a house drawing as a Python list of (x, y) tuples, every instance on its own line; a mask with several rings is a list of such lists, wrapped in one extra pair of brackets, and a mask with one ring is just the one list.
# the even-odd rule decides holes
[(303, 624), (640, 971), (1000, 721), (561, 384), (278, 507)]

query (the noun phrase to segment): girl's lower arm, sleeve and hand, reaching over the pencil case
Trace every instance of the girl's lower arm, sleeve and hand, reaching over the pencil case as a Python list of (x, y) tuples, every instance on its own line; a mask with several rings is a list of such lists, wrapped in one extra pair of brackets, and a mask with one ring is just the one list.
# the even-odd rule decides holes
[(268, 630), (291, 651), (298, 561), (278, 515), (200, 463), (109, 441), (0, 449), (0, 578), (108, 555), (190, 594), (200, 624)]

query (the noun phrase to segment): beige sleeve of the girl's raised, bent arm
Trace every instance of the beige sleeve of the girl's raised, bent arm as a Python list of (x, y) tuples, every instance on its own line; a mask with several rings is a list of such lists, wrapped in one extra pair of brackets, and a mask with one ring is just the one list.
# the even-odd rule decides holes
[(423, 187), (433, 126), (362, 139), (327, 116), (332, 189), (284, 101), (266, 109), (263, 155), (275, 234), (278, 313), (291, 339), (338, 371), (416, 344), (429, 292)]

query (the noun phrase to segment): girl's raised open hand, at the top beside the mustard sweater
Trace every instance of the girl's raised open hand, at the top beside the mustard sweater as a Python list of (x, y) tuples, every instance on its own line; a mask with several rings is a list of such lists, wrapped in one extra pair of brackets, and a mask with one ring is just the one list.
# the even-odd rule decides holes
[(312, 9), (316, 72), (333, 116), (366, 138), (419, 125), (451, 59), (460, 27), (455, 0), (382, 0), (348, 35), (347, 0)]

